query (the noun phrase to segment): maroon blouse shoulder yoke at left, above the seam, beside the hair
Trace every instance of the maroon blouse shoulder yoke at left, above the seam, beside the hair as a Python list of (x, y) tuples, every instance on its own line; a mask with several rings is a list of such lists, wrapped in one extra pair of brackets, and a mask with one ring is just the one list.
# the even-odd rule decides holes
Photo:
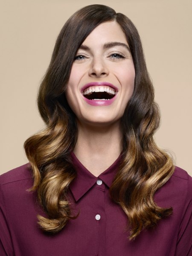
[(22, 180), (32, 180), (32, 169), (29, 163), (0, 175), (0, 185), (2, 186), (10, 183), (14, 184)]

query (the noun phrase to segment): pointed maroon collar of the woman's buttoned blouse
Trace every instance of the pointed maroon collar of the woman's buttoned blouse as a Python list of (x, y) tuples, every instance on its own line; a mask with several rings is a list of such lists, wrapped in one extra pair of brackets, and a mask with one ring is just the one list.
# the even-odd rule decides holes
[(102, 180), (108, 187), (110, 187), (116, 175), (116, 171), (120, 163), (120, 157), (121, 155), (108, 169), (96, 177), (81, 164), (72, 152), (71, 160), (76, 169), (77, 176), (70, 184), (70, 190), (75, 200), (78, 201), (96, 183), (97, 180)]

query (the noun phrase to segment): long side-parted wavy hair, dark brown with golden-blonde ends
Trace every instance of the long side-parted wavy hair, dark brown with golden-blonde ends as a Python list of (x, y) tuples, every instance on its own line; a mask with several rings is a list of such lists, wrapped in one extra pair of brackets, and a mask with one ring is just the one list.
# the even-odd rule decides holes
[(64, 24), (38, 92), (38, 108), (46, 128), (24, 143), (33, 170), (38, 202), (47, 217), (38, 215), (41, 228), (57, 233), (73, 218), (67, 197), (76, 170), (70, 158), (77, 140), (76, 116), (65, 98), (65, 90), (77, 50), (99, 24), (113, 21), (125, 33), (135, 68), (134, 93), (122, 117), (122, 160), (110, 187), (112, 200), (128, 217), (129, 239), (172, 214), (161, 208), (154, 193), (171, 177), (172, 158), (157, 147), (153, 135), (160, 124), (154, 88), (148, 75), (140, 36), (131, 20), (108, 6), (86, 6)]

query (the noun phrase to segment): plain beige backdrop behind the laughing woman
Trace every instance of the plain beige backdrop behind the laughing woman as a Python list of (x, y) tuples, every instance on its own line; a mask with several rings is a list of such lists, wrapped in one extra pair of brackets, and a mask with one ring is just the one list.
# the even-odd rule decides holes
[(136, 25), (162, 115), (157, 144), (192, 175), (191, 0), (0, 0), (0, 173), (27, 162), (23, 143), (44, 127), (36, 94), (56, 37), (70, 15), (93, 3)]

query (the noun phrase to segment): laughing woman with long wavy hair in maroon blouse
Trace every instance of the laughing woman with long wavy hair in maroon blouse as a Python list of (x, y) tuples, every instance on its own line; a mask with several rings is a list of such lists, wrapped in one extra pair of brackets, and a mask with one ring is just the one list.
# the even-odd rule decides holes
[(1, 255), (192, 254), (192, 179), (154, 143), (131, 20), (103, 5), (72, 15), (38, 107), (47, 128), (25, 142), (30, 164), (0, 177)]

